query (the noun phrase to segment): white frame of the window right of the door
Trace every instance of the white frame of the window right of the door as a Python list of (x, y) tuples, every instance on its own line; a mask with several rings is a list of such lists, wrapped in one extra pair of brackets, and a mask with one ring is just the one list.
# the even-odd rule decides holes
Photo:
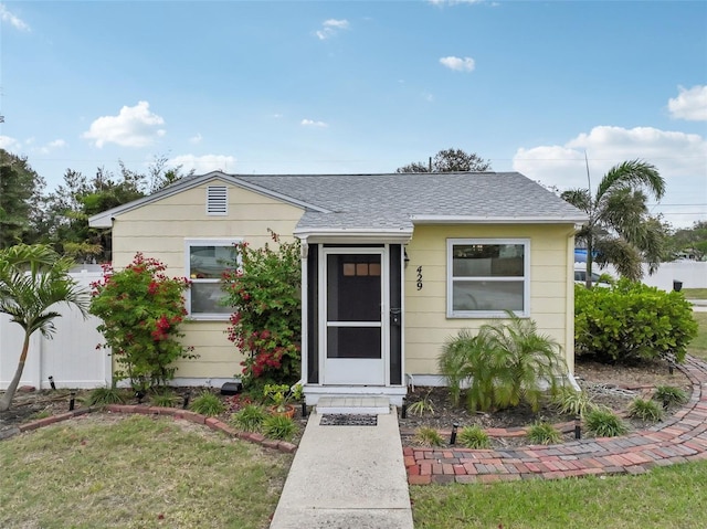
[[(516, 276), (460, 276), (454, 277), (454, 246), (457, 245), (495, 245), (523, 244), (523, 277)], [(523, 309), (514, 310), (519, 317), (530, 316), (530, 240), (529, 239), (447, 239), (446, 240), (446, 317), (447, 318), (498, 318), (505, 317), (504, 310), (454, 310), (455, 281), (486, 281), (486, 282), (523, 282)]]

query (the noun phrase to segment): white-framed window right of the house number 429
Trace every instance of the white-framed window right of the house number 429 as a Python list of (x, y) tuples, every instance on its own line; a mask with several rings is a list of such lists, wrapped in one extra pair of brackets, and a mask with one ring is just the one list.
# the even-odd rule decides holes
[(447, 317), (528, 315), (530, 242), (447, 239)]

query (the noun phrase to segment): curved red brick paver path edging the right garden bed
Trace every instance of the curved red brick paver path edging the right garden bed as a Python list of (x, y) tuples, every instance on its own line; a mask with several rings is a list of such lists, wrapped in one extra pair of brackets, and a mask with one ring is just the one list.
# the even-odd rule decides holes
[(655, 465), (707, 459), (707, 364), (688, 357), (680, 369), (693, 383), (692, 398), (654, 427), (623, 437), (504, 451), (404, 447), (408, 480), (426, 485), (641, 474)]

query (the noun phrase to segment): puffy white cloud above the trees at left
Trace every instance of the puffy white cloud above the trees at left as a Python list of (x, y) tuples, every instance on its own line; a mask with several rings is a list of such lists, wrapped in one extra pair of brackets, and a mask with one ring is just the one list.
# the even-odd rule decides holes
[(82, 135), (94, 140), (96, 147), (116, 144), (122, 147), (147, 147), (157, 138), (165, 136), (165, 124), (157, 114), (150, 112), (150, 104), (138, 102), (135, 106), (124, 106), (117, 116), (103, 116), (91, 124), (91, 128)]

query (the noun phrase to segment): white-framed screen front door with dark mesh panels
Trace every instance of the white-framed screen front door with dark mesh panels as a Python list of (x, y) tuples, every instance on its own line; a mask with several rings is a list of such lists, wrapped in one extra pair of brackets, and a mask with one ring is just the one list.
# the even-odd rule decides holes
[(384, 385), (386, 266), (383, 248), (325, 248), (324, 383)]

